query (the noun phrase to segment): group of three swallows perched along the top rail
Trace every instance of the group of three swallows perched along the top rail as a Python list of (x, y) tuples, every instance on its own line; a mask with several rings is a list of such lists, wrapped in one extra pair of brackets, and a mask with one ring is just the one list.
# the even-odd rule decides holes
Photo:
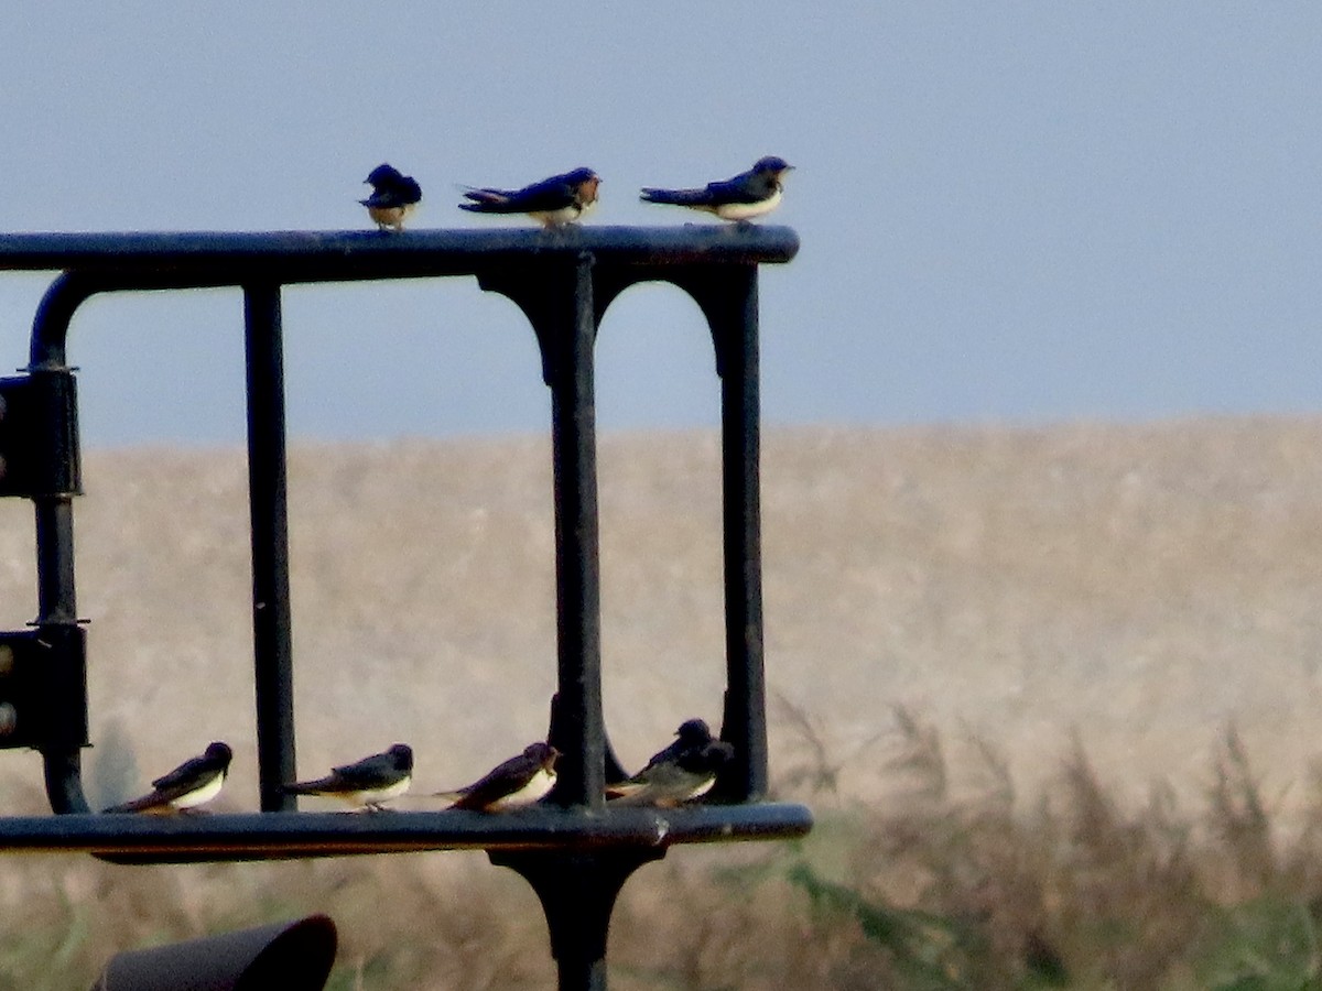
[[(723, 221), (746, 223), (771, 213), (780, 205), (784, 176), (793, 168), (784, 159), (769, 155), (759, 159), (748, 172), (734, 178), (709, 182), (701, 189), (644, 189), (641, 198), (649, 203), (672, 203), (715, 214)], [(371, 196), (360, 200), (379, 230), (405, 229), (405, 218), (422, 202), (422, 186), (389, 164), (381, 164), (364, 180)], [(468, 202), (461, 210), (494, 214), (527, 214), (547, 230), (574, 223), (596, 205), (602, 177), (592, 169), (579, 168), (551, 176), (522, 189), (463, 188)]]

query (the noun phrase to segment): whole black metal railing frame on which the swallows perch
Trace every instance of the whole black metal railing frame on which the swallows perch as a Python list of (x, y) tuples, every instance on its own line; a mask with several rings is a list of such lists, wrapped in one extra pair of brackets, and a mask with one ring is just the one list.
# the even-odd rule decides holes
[[(493, 863), (524, 875), (542, 899), (561, 987), (604, 988), (611, 908), (639, 865), (673, 843), (800, 836), (812, 826), (805, 807), (763, 801), (758, 266), (788, 262), (797, 248), (793, 231), (755, 226), (0, 235), (0, 270), (62, 271), (37, 311), (26, 373), (33, 383), (56, 383), (56, 391), (70, 395), (66, 338), (90, 297), (222, 285), (243, 291), (262, 807), (262, 814), (171, 819), (89, 811), (79, 770), (87, 740), (86, 688), (77, 684), (85, 646), (74, 592), (78, 449), (70, 400), (58, 408), (73, 422), (42, 433), (66, 439), (63, 449), (46, 455), (65, 465), (63, 474), (56, 473), (63, 484), (22, 494), (36, 507), (36, 636), (62, 662), (50, 670), (74, 673), (53, 680), (48, 694), (61, 698), (42, 704), (59, 711), (81, 703), (81, 721), (54, 719), (54, 728), (37, 733), (46, 791), (59, 815), (0, 818), (0, 852), (90, 851), (144, 863), (483, 848)], [(513, 815), (270, 815), (295, 809), (283, 790), (293, 778), (295, 751), (280, 289), (436, 276), (476, 276), (483, 289), (512, 299), (533, 325), (551, 390), (558, 691), (549, 736), (563, 754), (559, 778), (549, 805)], [(602, 714), (594, 348), (611, 301), (650, 280), (673, 283), (698, 303), (722, 382), (727, 691), (720, 736), (735, 747), (715, 801), (665, 811), (607, 809), (603, 798), (604, 785), (623, 770)]]

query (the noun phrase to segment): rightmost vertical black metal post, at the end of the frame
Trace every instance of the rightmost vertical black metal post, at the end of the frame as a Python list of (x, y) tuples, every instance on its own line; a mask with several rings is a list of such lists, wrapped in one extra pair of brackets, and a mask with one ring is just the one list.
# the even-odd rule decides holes
[(726, 706), (723, 737), (734, 744), (738, 778), (722, 780), (722, 797), (767, 794), (767, 688), (761, 620), (761, 439), (758, 391), (758, 270), (732, 270), (720, 283), (724, 305), (713, 307), (720, 371), (722, 488), (726, 583)]

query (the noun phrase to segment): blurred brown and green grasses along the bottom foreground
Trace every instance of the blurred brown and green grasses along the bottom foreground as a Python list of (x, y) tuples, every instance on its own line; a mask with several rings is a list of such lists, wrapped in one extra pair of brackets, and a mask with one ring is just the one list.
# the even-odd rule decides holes
[[(1322, 789), (1274, 815), (1233, 729), (1200, 809), (1165, 789), (1125, 809), (1080, 747), (1025, 803), (981, 745), (989, 786), (957, 797), (939, 735), (900, 712), (899, 797), (855, 807), (814, 724), (791, 721), (814, 766), (785, 781), (809, 782), (820, 828), (644, 868), (616, 913), (612, 987), (1322, 988)], [(554, 983), (535, 900), (479, 855), (0, 864), (0, 991), (86, 987), (118, 949), (307, 912), (340, 926), (338, 991)]]

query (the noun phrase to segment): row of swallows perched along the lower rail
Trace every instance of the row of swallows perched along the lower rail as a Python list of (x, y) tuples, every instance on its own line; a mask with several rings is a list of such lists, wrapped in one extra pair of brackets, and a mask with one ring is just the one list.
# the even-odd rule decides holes
[[(435, 791), (432, 798), (451, 802), (449, 809), (502, 811), (533, 805), (555, 784), (561, 753), (547, 743), (534, 743), (493, 768), (471, 785)], [(186, 813), (214, 798), (230, 769), (233, 752), (213, 743), (200, 757), (184, 761), (156, 778), (141, 798), (106, 809), (107, 813)], [(627, 781), (607, 786), (612, 805), (673, 807), (705, 795), (717, 773), (734, 757), (734, 747), (711, 736), (701, 719), (690, 719), (676, 731), (676, 740), (653, 754), (648, 765)], [(284, 790), (295, 795), (336, 798), (354, 810), (382, 811), (412, 784), (412, 748), (395, 744), (389, 751), (364, 757), (357, 764), (334, 768), (315, 781), (296, 781)]]

